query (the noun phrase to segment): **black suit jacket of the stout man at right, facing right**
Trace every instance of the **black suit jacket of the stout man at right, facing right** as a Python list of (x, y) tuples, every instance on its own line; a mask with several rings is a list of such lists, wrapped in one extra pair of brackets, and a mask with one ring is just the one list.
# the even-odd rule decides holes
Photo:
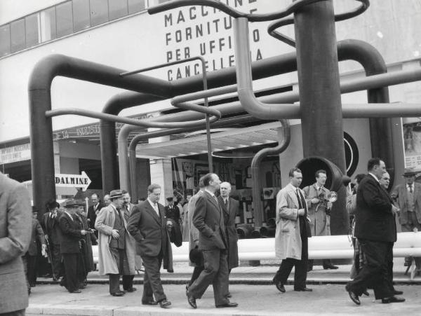
[(355, 236), (382, 242), (396, 241), (392, 198), (370, 174), (356, 192)]

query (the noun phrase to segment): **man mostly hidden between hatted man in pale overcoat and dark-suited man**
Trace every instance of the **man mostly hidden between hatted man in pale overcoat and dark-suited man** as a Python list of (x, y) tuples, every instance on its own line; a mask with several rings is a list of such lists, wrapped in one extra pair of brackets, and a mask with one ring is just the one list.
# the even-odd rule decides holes
[[(133, 213), (133, 209), (138, 208), (137, 205), (134, 205), (131, 203), (131, 197), (130, 194), (127, 191), (123, 190), (123, 207), (121, 207), (121, 211), (124, 215), (124, 221), (126, 223), (126, 243), (130, 244), (130, 247), (128, 247), (126, 251), (127, 260), (130, 262), (130, 266), (136, 267), (136, 261), (135, 261), (135, 252), (136, 252), (136, 240), (133, 238), (132, 235), (128, 233), (127, 225), (128, 225), (128, 219), (130, 215)], [(130, 249), (130, 250), (129, 250)], [(128, 292), (134, 292), (137, 289), (133, 287), (133, 278), (135, 277), (135, 269), (131, 270), (129, 269), (128, 275), (123, 275), (123, 291)]]

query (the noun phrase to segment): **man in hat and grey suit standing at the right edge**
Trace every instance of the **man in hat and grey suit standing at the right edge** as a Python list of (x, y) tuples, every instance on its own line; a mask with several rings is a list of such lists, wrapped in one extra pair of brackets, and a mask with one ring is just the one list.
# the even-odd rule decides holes
[[(403, 232), (421, 231), (421, 184), (415, 182), (415, 172), (406, 170), (403, 174), (405, 184), (396, 186), (390, 195), (394, 204), (399, 207), (400, 224)], [(405, 259), (410, 265), (410, 257)], [(415, 258), (415, 266), (421, 272), (421, 258)]]

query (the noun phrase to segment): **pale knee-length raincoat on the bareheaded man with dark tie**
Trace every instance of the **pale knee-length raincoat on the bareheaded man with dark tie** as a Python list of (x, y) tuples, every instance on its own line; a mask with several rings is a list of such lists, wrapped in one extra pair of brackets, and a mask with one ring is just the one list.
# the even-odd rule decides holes
[[(288, 184), (276, 195), (275, 254), (277, 259), (301, 260), (300, 222), (296, 188)], [(302, 196), (304, 193), (299, 188)], [(307, 209), (307, 205), (304, 205)]]

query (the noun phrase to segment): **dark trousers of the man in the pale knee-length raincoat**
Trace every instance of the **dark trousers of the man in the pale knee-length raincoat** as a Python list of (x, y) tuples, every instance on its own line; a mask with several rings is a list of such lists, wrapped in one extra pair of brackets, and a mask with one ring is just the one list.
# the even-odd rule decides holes
[(279, 270), (274, 277), (275, 282), (281, 281), (286, 284), (288, 277), (295, 267), (294, 271), (294, 289), (305, 289), (305, 281), (307, 280), (307, 264), (309, 259), (309, 243), (307, 235), (301, 235), (301, 260), (286, 258), (283, 259)]

